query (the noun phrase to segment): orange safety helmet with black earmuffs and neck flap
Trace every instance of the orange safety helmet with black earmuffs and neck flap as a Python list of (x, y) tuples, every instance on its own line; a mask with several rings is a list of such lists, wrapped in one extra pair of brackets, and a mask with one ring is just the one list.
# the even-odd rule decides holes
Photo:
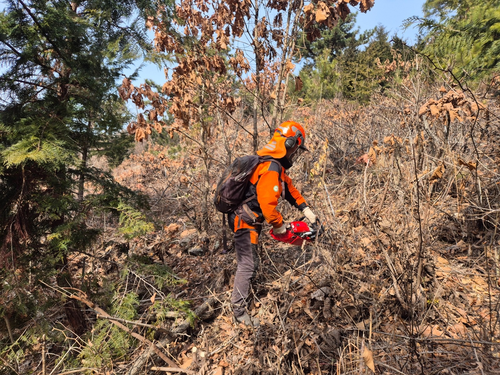
[(302, 125), (295, 121), (284, 121), (274, 130), (274, 135), (269, 142), (257, 151), (257, 155), (269, 155), (279, 159), (286, 155), (286, 151), (297, 145), (297, 148), (305, 148), (305, 131)]

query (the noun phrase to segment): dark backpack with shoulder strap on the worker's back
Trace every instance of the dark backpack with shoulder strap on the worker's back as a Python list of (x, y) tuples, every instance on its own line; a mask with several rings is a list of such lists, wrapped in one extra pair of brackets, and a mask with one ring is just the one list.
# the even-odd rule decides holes
[[(224, 170), (220, 177), (217, 187), (215, 188), (215, 196), (213, 197), (213, 205), (217, 211), (222, 212), (222, 237), (224, 250), (227, 252), (227, 235), (225, 227), (225, 214), (235, 211), (238, 207), (243, 206), (253, 198), (255, 194), (244, 199), (248, 181), (255, 170), (255, 167), (263, 161), (273, 160), (279, 165), (281, 163), (275, 160), (272, 156), (246, 155), (236, 157), (233, 162)], [(281, 175), (279, 176), (281, 180)]]

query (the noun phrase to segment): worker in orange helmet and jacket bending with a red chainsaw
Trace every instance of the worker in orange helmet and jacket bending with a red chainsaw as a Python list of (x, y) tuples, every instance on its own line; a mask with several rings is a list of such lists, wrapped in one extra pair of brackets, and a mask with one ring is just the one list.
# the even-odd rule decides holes
[(234, 231), (234, 248), (238, 266), (234, 276), (234, 288), (231, 295), (234, 318), (245, 325), (258, 326), (257, 317), (246, 312), (249, 302), (250, 282), (259, 267), (257, 254), (258, 236), (261, 223), (265, 220), (273, 226), (273, 232), (283, 234), (287, 225), (276, 210), (279, 197), (300, 209), (310, 223), (316, 221), (316, 215), (307, 205), (303, 196), (293, 186), (285, 170), (292, 166), (293, 157), (304, 146), (305, 132), (295, 121), (285, 121), (274, 131), (274, 135), (260, 150), (259, 156), (266, 158), (254, 169), (247, 187), (245, 199), (255, 197), (229, 214), (229, 227)]

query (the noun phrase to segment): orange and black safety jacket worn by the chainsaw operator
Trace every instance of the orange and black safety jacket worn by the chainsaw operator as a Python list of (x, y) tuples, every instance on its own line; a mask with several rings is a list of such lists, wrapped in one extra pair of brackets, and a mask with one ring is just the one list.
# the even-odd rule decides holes
[(300, 210), (307, 206), (284, 168), (273, 160), (261, 162), (253, 171), (245, 197), (249, 198), (253, 194), (255, 198), (246, 203), (248, 208), (253, 211), (257, 222), (265, 219), (273, 227), (283, 223), (283, 216), (276, 210), (280, 196)]

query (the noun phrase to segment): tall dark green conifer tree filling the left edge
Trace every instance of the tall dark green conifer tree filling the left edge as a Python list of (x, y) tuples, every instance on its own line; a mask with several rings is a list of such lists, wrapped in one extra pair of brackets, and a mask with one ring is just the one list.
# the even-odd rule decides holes
[[(145, 205), (86, 160), (128, 121), (116, 85), (150, 49), (145, 18), (166, 21), (172, 9), (173, 0), (8, 0), (0, 13), (0, 313), (14, 326), (44, 307), (37, 279), (71, 286), (67, 254), (94, 241), (92, 210)], [(85, 182), (98, 194), (85, 195)], [(79, 306), (66, 301), (65, 311), (81, 334)]]

